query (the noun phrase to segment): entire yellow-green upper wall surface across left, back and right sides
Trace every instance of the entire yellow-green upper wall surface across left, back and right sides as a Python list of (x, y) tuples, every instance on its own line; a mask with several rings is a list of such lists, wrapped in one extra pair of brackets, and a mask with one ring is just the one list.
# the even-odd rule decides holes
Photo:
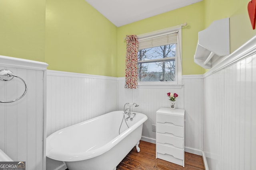
[(230, 51), (256, 35), (250, 0), (204, 0), (116, 27), (85, 0), (1, 0), (0, 55), (42, 61), (48, 69), (123, 77), (126, 35), (187, 22), (182, 29), (182, 74), (202, 74), (194, 63), (198, 31), (230, 18)]

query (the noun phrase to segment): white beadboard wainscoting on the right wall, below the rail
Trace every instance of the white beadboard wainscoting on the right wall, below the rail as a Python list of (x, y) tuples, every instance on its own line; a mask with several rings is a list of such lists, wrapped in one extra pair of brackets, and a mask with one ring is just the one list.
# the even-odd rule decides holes
[(256, 55), (204, 78), (203, 151), (210, 170), (254, 170)]

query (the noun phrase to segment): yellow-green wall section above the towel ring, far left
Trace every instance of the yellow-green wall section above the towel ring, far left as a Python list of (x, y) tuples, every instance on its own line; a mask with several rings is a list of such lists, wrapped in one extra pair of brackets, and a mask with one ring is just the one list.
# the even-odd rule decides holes
[(0, 1), (0, 55), (44, 61), (45, 0)]

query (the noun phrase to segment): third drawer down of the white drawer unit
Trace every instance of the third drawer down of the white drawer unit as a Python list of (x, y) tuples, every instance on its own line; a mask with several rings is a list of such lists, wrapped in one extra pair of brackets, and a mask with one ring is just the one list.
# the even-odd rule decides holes
[(183, 138), (180, 137), (156, 133), (156, 142), (161, 144), (170, 144), (174, 147), (183, 149)]

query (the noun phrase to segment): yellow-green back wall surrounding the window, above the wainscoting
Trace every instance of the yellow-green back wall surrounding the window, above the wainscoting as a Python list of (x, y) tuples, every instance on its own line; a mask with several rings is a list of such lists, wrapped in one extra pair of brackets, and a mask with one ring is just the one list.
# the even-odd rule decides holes
[(118, 27), (118, 77), (125, 75), (126, 35), (140, 35), (151, 31), (157, 31), (187, 22), (182, 29), (182, 73), (202, 74), (204, 69), (194, 63), (194, 54), (198, 41), (198, 31), (204, 29), (204, 3), (198, 2), (183, 8), (179, 8), (164, 14), (137, 21)]

